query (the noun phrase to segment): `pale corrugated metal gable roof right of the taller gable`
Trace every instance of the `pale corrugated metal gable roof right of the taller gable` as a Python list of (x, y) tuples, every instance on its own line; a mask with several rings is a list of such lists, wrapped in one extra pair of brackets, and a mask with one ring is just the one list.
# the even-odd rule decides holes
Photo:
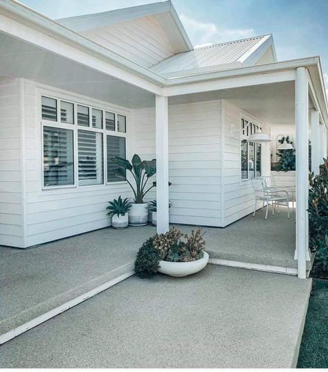
[[(271, 48), (271, 50), (269, 50)], [(248, 39), (225, 42), (195, 48), (193, 51), (178, 53), (158, 62), (150, 70), (165, 77), (180, 76), (206, 71), (234, 69), (256, 64), (269, 50), (268, 61), (276, 62), (273, 38), (271, 35), (250, 37)]]

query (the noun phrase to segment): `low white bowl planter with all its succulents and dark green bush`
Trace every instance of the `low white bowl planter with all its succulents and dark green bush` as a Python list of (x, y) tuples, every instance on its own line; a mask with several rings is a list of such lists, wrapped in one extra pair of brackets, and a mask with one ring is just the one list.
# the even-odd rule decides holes
[(204, 251), (205, 240), (199, 228), (188, 236), (173, 227), (164, 234), (156, 234), (140, 247), (135, 272), (147, 278), (161, 272), (170, 276), (187, 276), (203, 269), (208, 263)]

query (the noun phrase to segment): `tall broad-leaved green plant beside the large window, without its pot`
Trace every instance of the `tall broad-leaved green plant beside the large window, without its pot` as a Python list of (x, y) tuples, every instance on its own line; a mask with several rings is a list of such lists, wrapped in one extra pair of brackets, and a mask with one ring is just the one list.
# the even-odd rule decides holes
[(156, 173), (156, 159), (142, 161), (137, 154), (134, 154), (131, 163), (122, 157), (112, 157), (111, 161), (118, 165), (118, 168), (113, 168), (117, 177), (126, 179), (127, 171), (134, 177), (135, 186), (128, 179), (126, 181), (134, 193), (134, 202), (143, 204), (145, 195), (156, 187), (156, 181), (152, 183), (152, 186), (147, 186), (149, 178)]

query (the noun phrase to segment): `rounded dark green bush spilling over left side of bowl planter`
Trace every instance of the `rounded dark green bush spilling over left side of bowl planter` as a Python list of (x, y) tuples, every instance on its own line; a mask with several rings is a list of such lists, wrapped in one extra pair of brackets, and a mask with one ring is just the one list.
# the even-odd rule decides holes
[(154, 248), (153, 240), (154, 238), (146, 240), (138, 251), (134, 271), (140, 278), (149, 278), (158, 271), (161, 252)]

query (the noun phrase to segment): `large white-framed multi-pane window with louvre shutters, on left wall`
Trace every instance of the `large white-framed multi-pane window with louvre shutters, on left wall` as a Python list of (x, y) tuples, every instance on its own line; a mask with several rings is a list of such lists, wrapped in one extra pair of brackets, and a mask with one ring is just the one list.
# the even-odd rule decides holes
[(43, 186), (124, 181), (111, 158), (126, 157), (126, 125), (121, 114), (42, 96)]

